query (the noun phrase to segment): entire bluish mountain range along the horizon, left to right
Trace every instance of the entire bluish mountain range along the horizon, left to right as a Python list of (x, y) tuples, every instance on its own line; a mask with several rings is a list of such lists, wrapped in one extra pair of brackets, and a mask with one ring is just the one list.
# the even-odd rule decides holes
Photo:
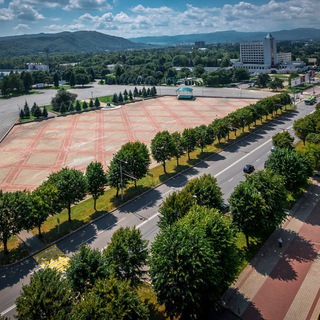
[[(258, 41), (267, 32), (219, 31), (176, 36), (149, 36), (125, 39), (96, 31), (39, 33), (21, 36), (0, 37), (0, 57), (50, 53), (97, 52), (148, 48), (150, 46), (174, 46), (205, 41), (207, 44)], [(320, 40), (320, 30), (300, 28), (274, 31), (276, 40)]]

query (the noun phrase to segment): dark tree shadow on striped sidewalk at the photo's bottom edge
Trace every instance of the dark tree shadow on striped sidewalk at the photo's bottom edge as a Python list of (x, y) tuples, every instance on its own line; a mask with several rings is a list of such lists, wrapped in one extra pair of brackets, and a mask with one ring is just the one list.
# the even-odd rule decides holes
[[(219, 310), (218, 310), (219, 311)], [(245, 313), (247, 319), (263, 320), (259, 308), (257, 308), (246, 296), (239, 292), (237, 288), (230, 287), (222, 296), (222, 307), (220, 317), (213, 313), (210, 320), (235, 320), (242, 319)], [(219, 316), (219, 313), (218, 313)]]

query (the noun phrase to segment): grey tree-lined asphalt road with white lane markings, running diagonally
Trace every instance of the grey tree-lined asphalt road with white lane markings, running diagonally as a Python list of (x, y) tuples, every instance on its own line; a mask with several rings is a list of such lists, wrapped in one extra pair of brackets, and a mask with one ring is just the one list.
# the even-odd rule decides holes
[[(274, 120), (246, 138), (238, 140), (219, 154), (210, 156), (195, 167), (58, 241), (58, 248), (68, 256), (71, 256), (83, 243), (102, 249), (109, 242), (114, 231), (126, 226), (140, 228), (143, 237), (153, 241), (158, 230), (158, 208), (166, 196), (182, 188), (188, 180), (204, 173), (210, 173), (217, 178), (224, 198), (227, 200), (234, 187), (245, 178), (242, 172), (243, 166), (250, 163), (256, 169), (262, 169), (270, 152), (272, 136), (283, 130), (290, 131), (295, 120), (310, 113), (313, 109), (314, 107), (305, 106), (303, 103), (299, 104), (297, 111)], [(14, 303), (22, 285), (29, 282), (30, 274), (38, 268), (33, 258), (13, 266), (0, 268), (1, 313), (13, 317)]]

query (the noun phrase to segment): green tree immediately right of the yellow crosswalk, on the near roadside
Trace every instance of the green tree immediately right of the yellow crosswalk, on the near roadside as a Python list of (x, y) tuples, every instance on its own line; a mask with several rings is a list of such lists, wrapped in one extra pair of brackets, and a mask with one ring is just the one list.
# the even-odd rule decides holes
[(66, 271), (67, 280), (76, 293), (83, 293), (92, 289), (99, 279), (109, 276), (109, 266), (98, 249), (92, 249), (87, 245), (80, 246), (72, 255)]

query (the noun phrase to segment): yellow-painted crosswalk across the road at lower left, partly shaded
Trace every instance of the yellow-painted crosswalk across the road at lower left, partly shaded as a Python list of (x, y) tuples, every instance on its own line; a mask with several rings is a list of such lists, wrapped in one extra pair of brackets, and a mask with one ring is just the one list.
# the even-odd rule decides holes
[(55, 244), (35, 254), (33, 258), (41, 268), (57, 269), (60, 272), (66, 271), (70, 260)]

